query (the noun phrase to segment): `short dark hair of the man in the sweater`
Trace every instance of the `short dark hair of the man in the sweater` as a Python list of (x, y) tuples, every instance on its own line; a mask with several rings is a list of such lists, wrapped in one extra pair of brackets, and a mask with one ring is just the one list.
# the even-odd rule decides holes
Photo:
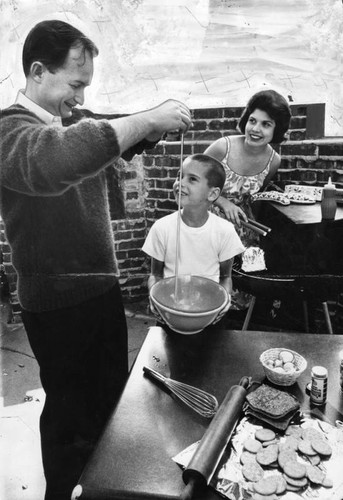
[(42, 21), (27, 35), (23, 48), (23, 69), (25, 76), (30, 73), (34, 61), (43, 63), (51, 73), (63, 66), (69, 50), (82, 46), (93, 57), (99, 51), (96, 45), (81, 31), (68, 23), (58, 20)]

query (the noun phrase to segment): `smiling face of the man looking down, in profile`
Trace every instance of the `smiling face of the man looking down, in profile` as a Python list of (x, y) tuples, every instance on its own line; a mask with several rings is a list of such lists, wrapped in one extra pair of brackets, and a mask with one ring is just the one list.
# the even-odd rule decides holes
[(54, 73), (43, 67), (37, 104), (55, 116), (67, 118), (74, 106), (83, 104), (85, 87), (92, 77), (92, 55), (81, 46), (71, 48), (64, 65)]

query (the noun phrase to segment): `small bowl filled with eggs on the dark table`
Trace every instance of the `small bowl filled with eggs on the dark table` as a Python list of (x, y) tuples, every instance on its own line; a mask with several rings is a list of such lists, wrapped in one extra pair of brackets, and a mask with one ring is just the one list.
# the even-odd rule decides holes
[(301, 354), (283, 347), (264, 351), (260, 361), (267, 379), (283, 386), (293, 385), (307, 367)]

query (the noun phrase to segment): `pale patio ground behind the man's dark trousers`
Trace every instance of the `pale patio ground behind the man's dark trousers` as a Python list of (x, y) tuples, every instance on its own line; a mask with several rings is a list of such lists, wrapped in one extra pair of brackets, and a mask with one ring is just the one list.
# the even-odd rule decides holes
[[(0, 499), (41, 500), (45, 480), (38, 426), (45, 394), (23, 325), (8, 323), (9, 316), (8, 304), (2, 303)], [(144, 302), (127, 304), (126, 317), (131, 366), (155, 320), (147, 314)]]

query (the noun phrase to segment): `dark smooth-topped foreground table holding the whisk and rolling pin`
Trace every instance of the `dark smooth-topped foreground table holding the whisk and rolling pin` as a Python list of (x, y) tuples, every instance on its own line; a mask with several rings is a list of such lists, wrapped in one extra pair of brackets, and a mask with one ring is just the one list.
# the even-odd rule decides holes
[[(310, 410), (305, 387), (313, 365), (329, 371), (324, 418), (343, 420), (339, 388), (339, 351), (343, 335), (240, 332), (206, 329), (196, 335), (166, 333), (150, 328), (117, 408), (89, 461), (73, 498), (80, 500), (177, 499), (184, 489), (182, 471), (172, 461), (181, 450), (201, 439), (208, 420), (175, 401), (143, 375), (143, 366), (224, 399), (242, 376), (264, 380), (259, 355), (271, 347), (303, 354), (308, 367), (288, 388)], [(209, 488), (197, 500), (214, 500)]]

